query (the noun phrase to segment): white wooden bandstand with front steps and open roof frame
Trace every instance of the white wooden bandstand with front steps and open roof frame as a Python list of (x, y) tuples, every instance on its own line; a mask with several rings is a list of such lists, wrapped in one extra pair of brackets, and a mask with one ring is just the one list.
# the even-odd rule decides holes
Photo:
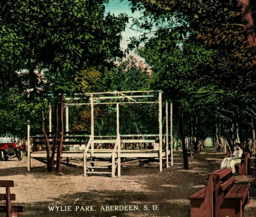
[[(81, 98), (87, 102), (77, 102)], [(81, 158), (83, 159), (84, 177), (90, 174), (108, 174), (111, 177), (121, 176), (121, 165), (127, 163), (127, 160), (134, 159), (157, 159), (159, 160), (159, 171), (162, 172), (163, 164), (169, 167), (169, 158), (171, 166), (172, 145), (169, 143), (169, 135), (172, 141), (172, 104), (170, 113), (170, 133), (168, 132), (168, 122), (166, 122), (166, 132), (162, 130), (162, 91), (122, 91), (122, 92), (103, 92), (87, 93), (76, 95), (73, 98), (65, 98), (66, 111), (66, 132), (63, 145), (68, 146), (68, 151), (62, 151), (61, 157)], [(116, 135), (97, 136), (94, 134), (94, 106), (98, 104), (116, 104)], [(159, 132), (157, 134), (145, 135), (123, 135), (119, 132), (119, 106), (122, 104), (158, 104)], [(68, 131), (68, 108), (69, 106), (89, 105), (91, 109), (91, 134), (90, 135), (71, 135)], [(51, 111), (49, 118), (49, 134), (54, 134), (51, 130)], [(165, 103), (165, 119), (168, 117), (168, 103)], [(31, 147), (44, 144), (43, 137), (30, 136), (30, 126), (28, 122), (28, 171), (31, 170), (31, 158), (46, 158), (46, 151), (31, 151)], [(78, 141), (80, 138), (80, 142)], [(49, 136), (50, 144), (53, 136)], [(30, 141), (32, 140), (32, 144)], [(40, 140), (41, 142), (38, 142)], [(82, 142), (81, 142), (82, 141)], [(170, 147), (170, 148), (169, 148)], [(56, 153), (55, 153), (56, 154)], [(90, 166), (87, 162), (90, 161)], [(117, 173), (116, 173), (117, 171)]]

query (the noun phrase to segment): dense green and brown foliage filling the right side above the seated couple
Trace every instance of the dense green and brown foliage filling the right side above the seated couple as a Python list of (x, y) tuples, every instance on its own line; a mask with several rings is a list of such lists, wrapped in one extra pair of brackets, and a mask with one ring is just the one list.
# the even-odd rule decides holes
[[(206, 130), (208, 136), (216, 124), (222, 130), (234, 123), (249, 128), (250, 115), (255, 116), (256, 62), (237, 2), (129, 1), (143, 14), (134, 21), (134, 27), (146, 30), (141, 38), (155, 35), (139, 54), (152, 68), (152, 86), (163, 89), (177, 106), (175, 114), (182, 113), (186, 122), (197, 116), (204, 126), (200, 132)], [(253, 11), (255, 3), (249, 4)], [(132, 45), (141, 38), (133, 38)], [(211, 128), (207, 120), (212, 120)]]

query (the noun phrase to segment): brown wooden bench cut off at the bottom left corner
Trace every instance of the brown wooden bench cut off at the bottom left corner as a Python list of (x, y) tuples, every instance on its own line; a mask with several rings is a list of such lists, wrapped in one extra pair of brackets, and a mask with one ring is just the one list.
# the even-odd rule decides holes
[(0, 187), (6, 188), (5, 194), (0, 194), (0, 200), (5, 200), (6, 204), (0, 204), (0, 213), (6, 213), (7, 217), (18, 217), (24, 212), (24, 205), (12, 205), (11, 200), (15, 200), (15, 194), (10, 193), (10, 187), (14, 187), (11, 180), (0, 180)]

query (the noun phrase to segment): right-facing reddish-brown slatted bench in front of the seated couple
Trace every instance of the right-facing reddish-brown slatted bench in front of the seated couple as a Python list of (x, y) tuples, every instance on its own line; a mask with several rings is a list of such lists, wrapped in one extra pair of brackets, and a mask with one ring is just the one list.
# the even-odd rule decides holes
[(249, 203), (249, 185), (235, 184), (231, 168), (213, 174), (215, 217), (242, 217), (242, 209)]

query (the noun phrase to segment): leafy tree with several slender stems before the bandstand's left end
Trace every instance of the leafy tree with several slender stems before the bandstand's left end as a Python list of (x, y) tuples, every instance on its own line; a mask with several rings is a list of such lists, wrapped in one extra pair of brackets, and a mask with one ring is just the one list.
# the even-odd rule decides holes
[[(52, 153), (57, 152), (57, 171), (60, 172), (60, 153), (63, 142), (64, 94), (76, 91), (75, 79), (82, 70), (94, 66), (110, 66), (123, 54), (119, 47), (121, 31), (128, 21), (126, 15), (104, 15), (107, 1), (6, 1), (2, 6), (1, 22), (22, 38), (24, 49), (20, 52), (23, 65), (28, 69), (27, 89), (30, 99), (44, 96), (55, 108), (55, 132)], [(4, 19), (6, 18), (6, 19)], [(9, 34), (11, 35), (11, 33)], [(22, 69), (22, 68), (20, 68)], [(48, 86), (40, 87), (35, 70), (44, 69)], [(13, 70), (11, 70), (14, 73)], [(41, 84), (40, 84), (41, 85)], [(38, 95), (39, 94), (39, 95)], [(52, 97), (48, 97), (51, 94)], [(43, 99), (41, 98), (41, 99)], [(42, 113), (42, 129), (44, 113)], [(44, 129), (43, 129), (44, 132)], [(46, 142), (47, 135), (44, 134)], [(47, 168), (53, 167), (53, 154)]]

